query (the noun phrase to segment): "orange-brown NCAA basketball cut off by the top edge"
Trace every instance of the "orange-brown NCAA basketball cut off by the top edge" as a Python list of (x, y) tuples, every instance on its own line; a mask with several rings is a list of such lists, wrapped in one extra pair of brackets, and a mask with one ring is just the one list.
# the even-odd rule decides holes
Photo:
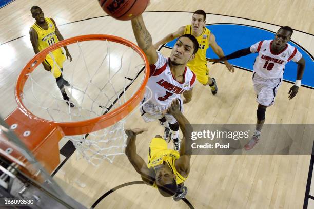
[(143, 13), (149, 0), (98, 0), (98, 2), (109, 16), (128, 21)]

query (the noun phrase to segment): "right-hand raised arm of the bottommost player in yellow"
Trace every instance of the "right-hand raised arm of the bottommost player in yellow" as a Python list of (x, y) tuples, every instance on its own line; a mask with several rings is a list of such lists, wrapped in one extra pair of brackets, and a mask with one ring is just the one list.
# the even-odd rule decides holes
[(175, 167), (180, 174), (185, 173), (188, 175), (190, 172), (190, 147), (186, 146), (186, 140), (191, 140), (190, 136), (193, 131), (190, 122), (180, 111), (180, 103), (178, 99), (172, 101), (171, 106), (167, 109), (167, 113), (171, 114), (176, 121), (178, 121), (180, 129), (183, 134), (180, 145), (180, 158), (175, 161)]

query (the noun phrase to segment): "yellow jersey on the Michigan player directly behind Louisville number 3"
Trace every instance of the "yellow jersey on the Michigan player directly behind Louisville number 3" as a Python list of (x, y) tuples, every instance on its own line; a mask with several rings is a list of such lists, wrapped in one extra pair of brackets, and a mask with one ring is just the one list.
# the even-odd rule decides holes
[[(184, 34), (192, 34), (191, 25), (185, 26)], [(187, 63), (189, 68), (205, 66), (207, 64), (206, 61), (206, 50), (209, 47), (208, 39), (210, 35), (210, 30), (204, 27), (203, 32), (200, 36), (195, 37), (199, 42), (198, 52), (195, 54), (195, 58)]]

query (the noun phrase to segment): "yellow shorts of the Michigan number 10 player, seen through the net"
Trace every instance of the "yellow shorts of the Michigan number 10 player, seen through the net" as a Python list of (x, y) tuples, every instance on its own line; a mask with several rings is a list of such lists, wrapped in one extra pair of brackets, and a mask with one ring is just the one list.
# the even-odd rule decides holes
[(53, 74), (54, 78), (58, 78), (62, 73), (61, 68), (63, 67), (63, 62), (66, 60), (66, 58), (64, 53), (60, 50), (53, 51), (52, 56), (47, 54), (45, 63), (50, 66), (51, 73)]

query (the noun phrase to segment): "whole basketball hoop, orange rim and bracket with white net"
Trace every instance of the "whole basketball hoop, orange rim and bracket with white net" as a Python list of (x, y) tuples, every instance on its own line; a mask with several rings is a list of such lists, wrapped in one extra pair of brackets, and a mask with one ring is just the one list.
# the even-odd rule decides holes
[[(47, 55), (56, 65), (53, 51), (64, 46), (76, 59), (74, 67), (66, 62), (69, 66), (63, 71), (63, 78), (70, 78), (67, 93), (69, 102), (75, 104), (72, 108), (60, 92), (51, 90), (56, 89), (53, 76), (45, 70), (35, 70), (42, 67)], [(81, 82), (77, 76), (88, 82)], [(143, 99), (148, 77), (148, 60), (132, 42), (102, 34), (72, 37), (44, 49), (26, 64), (15, 86), (18, 107), (5, 121), (48, 172), (60, 163), (58, 141), (64, 136), (90, 163), (97, 165), (99, 162), (93, 160), (103, 159), (112, 162), (114, 156), (123, 154), (125, 147), (127, 136), (122, 119)], [(1, 143), (1, 149), (8, 148), (7, 143)], [(14, 149), (12, 155), (22, 157)]]

